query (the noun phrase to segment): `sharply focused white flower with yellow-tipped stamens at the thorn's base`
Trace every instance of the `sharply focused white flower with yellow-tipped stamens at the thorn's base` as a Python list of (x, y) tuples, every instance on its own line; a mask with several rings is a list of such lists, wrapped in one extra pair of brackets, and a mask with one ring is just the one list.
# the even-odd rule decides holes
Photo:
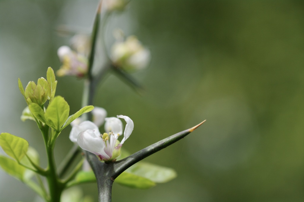
[(105, 119), (105, 131), (108, 133), (96, 134), (93, 130), (82, 131), (77, 137), (78, 145), (95, 155), (97, 155), (102, 161), (113, 161), (120, 155), (120, 148), (127, 138), (130, 137), (134, 123), (133, 121), (123, 115), (117, 116), (123, 118), (126, 121), (126, 127), (123, 132), (123, 139), (118, 141), (119, 136), (123, 131), (122, 122), (116, 117), (110, 117)]

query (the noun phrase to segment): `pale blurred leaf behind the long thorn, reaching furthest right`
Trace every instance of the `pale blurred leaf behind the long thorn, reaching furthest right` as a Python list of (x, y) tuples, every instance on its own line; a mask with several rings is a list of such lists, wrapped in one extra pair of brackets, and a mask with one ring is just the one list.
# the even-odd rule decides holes
[(126, 172), (150, 179), (155, 183), (165, 183), (176, 178), (177, 176), (174, 169), (146, 162), (138, 162), (128, 168)]

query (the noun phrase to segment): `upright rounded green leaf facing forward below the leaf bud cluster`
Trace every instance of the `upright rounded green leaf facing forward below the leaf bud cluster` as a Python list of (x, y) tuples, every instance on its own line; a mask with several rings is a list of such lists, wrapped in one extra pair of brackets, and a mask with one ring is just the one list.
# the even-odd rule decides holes
[(70, 106), (67, 101), (61, 96), (56, 96), (44, 114), (46, 124), (55, 131), (60, 132), (60, 128), (67, 120), (69, 112)]

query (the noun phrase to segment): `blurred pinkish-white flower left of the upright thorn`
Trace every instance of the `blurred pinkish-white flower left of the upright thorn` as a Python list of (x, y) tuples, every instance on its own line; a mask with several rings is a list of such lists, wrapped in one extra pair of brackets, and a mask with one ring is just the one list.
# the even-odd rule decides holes
[(58, 76), (78, 76), (83, 77), (88, 71), (88, 59), (82, 54), (71, 50), (68, 46), (61, 46), (57, 55), (62, 62), (62, 66), (56, 72)]

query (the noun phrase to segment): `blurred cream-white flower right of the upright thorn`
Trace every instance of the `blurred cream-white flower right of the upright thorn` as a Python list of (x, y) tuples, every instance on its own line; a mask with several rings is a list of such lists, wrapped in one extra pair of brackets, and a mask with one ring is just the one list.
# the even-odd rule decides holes
[(127, 37), (125, 41), (116, 38), (111, 49), (111, 59), (116, 66), (128, 72), (147, 67), (150, 51), (135, 36)]

